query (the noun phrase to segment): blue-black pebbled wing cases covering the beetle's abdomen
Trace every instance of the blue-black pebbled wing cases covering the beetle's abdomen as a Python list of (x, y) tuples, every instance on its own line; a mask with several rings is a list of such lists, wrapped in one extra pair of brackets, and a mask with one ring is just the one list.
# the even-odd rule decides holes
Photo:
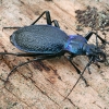
[(11, 43), (19, 49), (34, 53), (58, 53), (63, 50), (68, 35), (51, 25), (31, 25), (15, 31)]

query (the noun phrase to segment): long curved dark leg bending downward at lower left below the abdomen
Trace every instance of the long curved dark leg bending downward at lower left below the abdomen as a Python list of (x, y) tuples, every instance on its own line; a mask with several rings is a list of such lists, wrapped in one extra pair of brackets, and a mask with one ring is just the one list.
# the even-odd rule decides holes
[(5, 85), (7, 82), (9, 81), (10, 75), (11, 75), (17, 68), (20, 68), (20, 66), (22, 66), (22, 65), (25, 65), (25, 64), (28, 64), (28, 63), (34, 62), (34, 61), (51, 59), (51, 58), (55, 58), (55, 57), (57, 57), (57, 55), (52, 55), (52, 56), (40, 56), (40, 57), (38, 57), (38, 58), (36, 58), (36, 59), (28, 60), (28, 61), (26, 61), (26, 62), (20, 63), (19, 65), (14, 66), (14, 68), (10, 71), (10, 73), (8, 74), (7, 80), (5, 80), (5, 82), (4, 82), (4, 85)]

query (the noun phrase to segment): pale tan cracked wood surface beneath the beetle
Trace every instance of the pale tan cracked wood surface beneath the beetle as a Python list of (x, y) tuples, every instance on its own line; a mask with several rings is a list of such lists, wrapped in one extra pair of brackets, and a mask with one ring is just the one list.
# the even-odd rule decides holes
[[(108, 0), (0, 0), (0, 52), (21, 52), (10, 43), (13, 31), (2, 32), (2, 27), (29, 25), (45, 10), (50, 11), (51, 19), (58, 20), (66, 34), (85, 35), (90, 28), (75, 31), (74, 11), (87, 5), (100, 10), (109, 8)], [(45, 24), (45, 17), (38, 23)], [(106, 38), (109, 40), (109, 33)], [(14, 65), (27, 59), (33, 58), (5, 56), (0, 60), (0, 77), (5, 80)], [(74, 61), (83, 70), (88, 60), (77, 57)], [(85, 72), (89, 86), (85, 87), (81, 80), (65, 100), (78, 74), (64, 57), (21, 66), (10, 76), (5, 87), (0, 81), (0, 109), (109, 109), (109, 66), (100, 65), (101, 69), (92, 65), (90, 75)]]

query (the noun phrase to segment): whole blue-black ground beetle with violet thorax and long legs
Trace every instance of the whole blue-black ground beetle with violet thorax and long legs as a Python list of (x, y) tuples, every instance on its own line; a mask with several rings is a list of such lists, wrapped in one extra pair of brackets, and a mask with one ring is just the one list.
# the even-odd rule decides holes
[[(46, 14), (47, 25), (35, 25), (35, 23), (44, 14)], [(55, 26), (52, 26), (52, 24)], [(16, 57), (37, 56), (37, 58), (33, 60), (14, 66), (9, 73), (7, 81), (9, 80), (9, 76), (12, 74), (12, 72), (15, 71), (19, 66), (33, 61), (64, 56), (64, 53), (68, 52), (69, 56), (66, 59), (75, 68), (76, 72), (80, 74), (80, 78), (84, 80), (86, 83), (86, 80), (83, 77), (83, 73), (85, 72), (85, 70), (89, 68), (92, 63), (106, 61), (106, 55), (97, 44), (97, 38), (99, 38), (104, 45), (107, 44), (105, 39), (102, 39), (95, 32), (89, 32), (85, 37), (81, 35), (66, 35), (63, 31), (60, 29), (57, 20), (51, 21), (49, 11), (43, 12), (41, 15), (29, 26), (3, 28), (17, 28), (17, 31), (15, 31), (10, 36), (10, 41), (20, 50), (25, 51), (25, 53), (0, 52), (0, 55), (12, 55)], [(93, 34), (96, 35), (96, 46), (93, 44), (87, 44)], [(77, 69), (76, 64), (72, 62), (72, 58), (80, 55), (87, 56), (89, 58), (89, 62), (84, 68), (83, 72), (81, 72)], [(80, 78), (77, 80), (77, 82), (80, 81)], [(75, 87), (75, 85), (73, 86), (73, 88)], [(71, 89), (71, 92), (73, 90), (73, 88)], [(68, 94), (68, 96), (70, 95), (70, 93)]]

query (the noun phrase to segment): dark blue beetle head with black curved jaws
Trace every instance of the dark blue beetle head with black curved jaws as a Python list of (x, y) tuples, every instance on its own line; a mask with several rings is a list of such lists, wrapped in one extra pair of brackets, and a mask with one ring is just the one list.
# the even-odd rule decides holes
[(86, 56), (90, 59), (93, 57), (94, 62), (105, 62), (106, 53), (95, 45), (85, 45)]

